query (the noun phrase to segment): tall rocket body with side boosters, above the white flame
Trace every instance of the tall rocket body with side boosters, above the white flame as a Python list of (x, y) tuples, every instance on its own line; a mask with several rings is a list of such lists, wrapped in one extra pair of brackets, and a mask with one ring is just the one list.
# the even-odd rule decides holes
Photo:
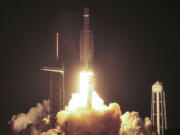
[(91, 71), (93, 62), (93, 34), (89, 28), (89, 8), (84, 8), (84, 24), (80, 33), (80, 68)]

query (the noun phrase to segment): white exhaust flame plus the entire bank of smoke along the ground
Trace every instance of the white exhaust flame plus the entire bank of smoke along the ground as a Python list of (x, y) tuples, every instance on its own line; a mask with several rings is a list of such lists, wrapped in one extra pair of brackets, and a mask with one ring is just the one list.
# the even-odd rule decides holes
[[(92, 73), (80, 73), (80, 90), (72, 94), (65, 110), (57, 113), (56, 128), (49, 129), (49, 100), (32, 107), (27, 114), (14, 115), (10, 121), (16, 132), (31, 135), (156, 135), (151, 120), (142, 120), (138, 112), (121, 115), (117, 103), (104, 105), (93, 90)], [(87, 105), (88, 91), (92, 88), (92, 106)], [(26, 132), (27, 131), (27, 132)]]

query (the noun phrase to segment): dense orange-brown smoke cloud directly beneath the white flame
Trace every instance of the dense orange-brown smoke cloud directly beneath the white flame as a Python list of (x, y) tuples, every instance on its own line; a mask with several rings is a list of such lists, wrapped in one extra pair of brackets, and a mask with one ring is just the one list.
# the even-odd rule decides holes
[(57, 115), (57, 122), (66, 135), (118, 135), (120, 116), (120, 106), (112, 103), (103, 110), (61, 111)]

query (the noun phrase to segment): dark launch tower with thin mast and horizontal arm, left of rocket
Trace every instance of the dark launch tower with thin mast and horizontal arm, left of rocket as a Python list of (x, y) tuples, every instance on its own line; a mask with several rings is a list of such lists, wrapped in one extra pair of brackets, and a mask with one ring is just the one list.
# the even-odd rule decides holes
[(55, 127), (57, 112), (64, 109), (64, 65), (59, 60), (59, 33), (56, 33), (56, 67), (43, 67), (50, 72), (50, 128)]

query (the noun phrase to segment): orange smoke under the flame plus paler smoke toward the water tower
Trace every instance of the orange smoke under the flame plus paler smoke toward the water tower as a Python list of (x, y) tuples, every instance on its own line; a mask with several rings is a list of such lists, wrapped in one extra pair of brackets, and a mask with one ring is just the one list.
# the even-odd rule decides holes
[(58, 135), (59, 132), (66, 135), (157, 135), (149, 117), (143, 120), (138, 112), (121, 115), (116, 103), (110, 104), (104, 111), (61, 111), (57, 118), (61, 126), (41, 135)]

